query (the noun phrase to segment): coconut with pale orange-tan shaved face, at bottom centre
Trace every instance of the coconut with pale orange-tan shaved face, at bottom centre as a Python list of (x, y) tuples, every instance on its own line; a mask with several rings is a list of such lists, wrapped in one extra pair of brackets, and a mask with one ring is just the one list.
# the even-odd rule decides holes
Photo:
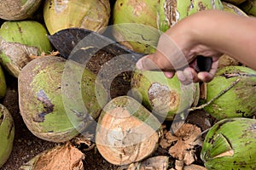
[(142, 161), (158, 146), (160, 122), (129, 96), (112, 99), (96, 127), (96, 147), (115, 165)]

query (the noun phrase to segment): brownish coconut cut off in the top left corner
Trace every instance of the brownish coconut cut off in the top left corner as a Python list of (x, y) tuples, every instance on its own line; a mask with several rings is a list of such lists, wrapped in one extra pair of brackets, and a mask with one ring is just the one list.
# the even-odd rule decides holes
[(0, 18), (3, 20), (25, 20), (41, 4), (41, 0), (4, 0), (0, 2)]

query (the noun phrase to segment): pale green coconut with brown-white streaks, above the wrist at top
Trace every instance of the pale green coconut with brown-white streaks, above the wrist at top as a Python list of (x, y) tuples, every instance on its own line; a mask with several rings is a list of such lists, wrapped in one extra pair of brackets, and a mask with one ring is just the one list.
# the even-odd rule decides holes
[(206, 9), (223, 9), (223, 5), (220, 0), (160, 0), (158, 27), (160, 31), (165, 32), (177, 21)]

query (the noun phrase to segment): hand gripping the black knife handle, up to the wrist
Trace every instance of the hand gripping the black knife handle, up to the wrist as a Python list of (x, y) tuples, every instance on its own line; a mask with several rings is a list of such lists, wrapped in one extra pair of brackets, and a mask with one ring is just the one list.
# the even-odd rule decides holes
[[(181, 20), (162, 34), (157, 51), (148, 54), (137, 62), (140, 70), (164, 71), (166, 77), (172, 78), (175, 72), (183, 84), (190, 82), (210, 82), (218, 69), (218, 50), (203, 44), (197, 39), (196, 32), (188, 29), (190, 20)], [(189, 24), (190, 23), (190, 24)], [(196, 56), (212, 57), (210, 71), (196, 71)]]

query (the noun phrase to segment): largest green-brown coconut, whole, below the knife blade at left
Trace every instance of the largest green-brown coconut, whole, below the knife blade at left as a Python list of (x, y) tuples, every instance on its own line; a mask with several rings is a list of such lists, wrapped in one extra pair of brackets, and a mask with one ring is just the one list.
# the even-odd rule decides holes
[[(65, 79), (71, 81), (62, 84)], [(96, 86), (95, 74), (59, 57), (33, 59), (20, 72), (18, 85), (26, 127), (38, 138), (53, 142), (65, 142), (81, 133), (99, 116), (107, 99), (103, 88)], [(63, 86), (78, 89), (65, 91)]]

